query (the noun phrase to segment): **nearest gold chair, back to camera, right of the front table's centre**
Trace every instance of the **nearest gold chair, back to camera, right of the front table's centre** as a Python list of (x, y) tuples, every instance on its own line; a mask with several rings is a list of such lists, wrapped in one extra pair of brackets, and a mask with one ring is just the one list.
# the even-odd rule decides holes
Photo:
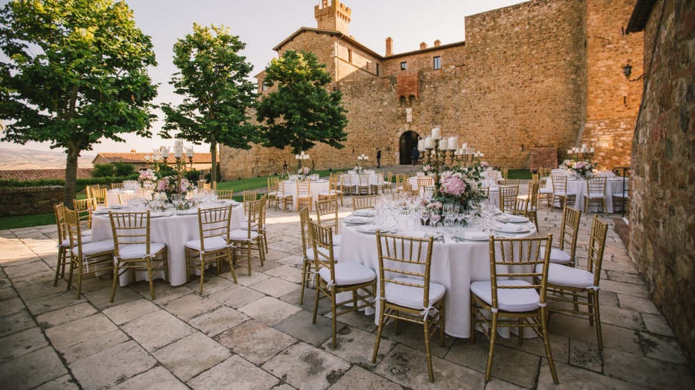
[[(495, 343), (499, 327), (518, 327), (518, 343), (523, 331), (531, 328), (543, 340), (553, 382), (555, 373), (553, 352), (548, 337), (548, 261), (553, 236), (534, 238), (490, 237), (490, 280), (471, 283), (471, 344), (476, 326), (490, 341), (485, 381), (490, 380)], [(546, 248), (543, 250), (542, 248)], [(534, 277), (534, 282), (523, 279)], [(491, 319), (483, 312), (491, 311)], [(490, 317), (490, 314), (487, 314)]]

